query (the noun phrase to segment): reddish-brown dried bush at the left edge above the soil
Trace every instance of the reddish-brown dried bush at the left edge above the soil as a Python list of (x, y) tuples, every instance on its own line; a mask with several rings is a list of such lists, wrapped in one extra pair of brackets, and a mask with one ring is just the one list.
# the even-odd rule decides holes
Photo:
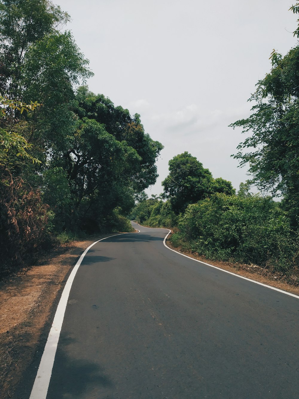
[(45, 241), (48, 205), (40, 191), (0, 166), (0, 279), (26, 270)]

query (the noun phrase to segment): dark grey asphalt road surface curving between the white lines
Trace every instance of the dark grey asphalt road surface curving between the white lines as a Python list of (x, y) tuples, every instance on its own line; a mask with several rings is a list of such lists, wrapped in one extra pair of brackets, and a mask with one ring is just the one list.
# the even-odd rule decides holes
[(40, 383), (20, 397), (297, 398), (299, 298), (170, 251), (165, 229), (133, 225), (140, 233), (83, 257), (52, 373), (49, 359), (41, 370), (49, 386), (28, 370), (23, 395)]

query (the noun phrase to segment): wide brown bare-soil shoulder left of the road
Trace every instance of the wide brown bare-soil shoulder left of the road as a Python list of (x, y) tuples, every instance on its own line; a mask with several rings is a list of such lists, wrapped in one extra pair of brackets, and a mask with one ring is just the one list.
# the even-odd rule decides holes
[(33, 354), (57, 294), (79, 256), (94, 241), (89, 237), (59, 247), (25, 274), (0, 283), (0, 398), (14, 397)]

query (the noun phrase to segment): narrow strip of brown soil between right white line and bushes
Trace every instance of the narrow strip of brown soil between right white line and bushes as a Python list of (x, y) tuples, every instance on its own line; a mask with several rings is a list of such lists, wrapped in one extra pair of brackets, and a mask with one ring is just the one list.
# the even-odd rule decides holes
[(198, 261), (209, 263), (212, 266), (219, 267), (219, 269), (224, 269), (231, 273), (247, 277), (248, 279), (262, 282), (263, 284), (270, 285), (280, 290), (291, 292), (292, 294), (299, 295), (299, 273), (294, 273), (293, 275), (285, 275), (283, 273), (277, 273), (271, 271), (270, 269), (265, 269), (258, 265), (244, 265), (241, 263), (230, 263), (222, 261), (211, 261), (203, 255), (198, 253), (191, 253), (188, 251), (183, 251), (181, 247), (174, 247), (169, 241), (171, 235), (167, 239), (167, 245), (169, 248), (174, 249), (184, 255), (187, 255)]

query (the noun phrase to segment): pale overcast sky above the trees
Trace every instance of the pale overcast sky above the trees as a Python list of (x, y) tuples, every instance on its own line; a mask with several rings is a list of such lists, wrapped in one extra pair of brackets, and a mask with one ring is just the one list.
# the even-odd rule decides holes
[(247, 99), (269, 72), (273, 48), (297, 44), (291, 0), (53, 0), (90, 60), (89, 89), (139, 113), (168, 161), (190, 152), (214, 178), (244, 182), (246, 168), (230, 158), (245, 136), (228, 124), (250, 115)]

